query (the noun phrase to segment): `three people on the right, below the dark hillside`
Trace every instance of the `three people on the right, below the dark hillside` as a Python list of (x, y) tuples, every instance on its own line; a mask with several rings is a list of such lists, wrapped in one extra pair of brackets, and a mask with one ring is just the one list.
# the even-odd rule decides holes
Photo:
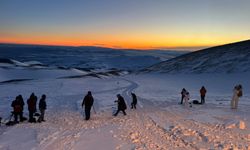
[[(205, 96), (206, 96), (207, 90), (204, 86), (201, 87), (200, 89), (200, 97), (201, 97), (201, 102), (197, 102), (196, 100), (193, 101), (194, 104), (205, 104)], [(233, 90), (233, 97), (231, 100), (231, 109), (237, 109), (238, 108), (238, 102), (239, 102), (239, 98), (242, 97), (243, 95), (243, 91), (242, 91), (242, 85), (236, 85), (234, 87)], [(183, 104), (184, 101), (184, 105), (188, 106), (189, 105), (189, 99), (190, 99), (190, 94), (189, 92), (183, 88), (181, 91), (181, 102), (180, 104)]]

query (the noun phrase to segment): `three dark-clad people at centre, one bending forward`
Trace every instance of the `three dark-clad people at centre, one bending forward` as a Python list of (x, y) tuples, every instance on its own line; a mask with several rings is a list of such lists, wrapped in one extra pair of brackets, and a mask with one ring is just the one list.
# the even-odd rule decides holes
[[(137, 97), (135, 93), (131, 93), (131, 95), (132, 95), (131, 109), (136, 109)], [(127, 109), (127, 105), (126, 105), (124, 98), (121, 96), (121, 94), (117, 94), (117, 100), (115, 100), (114, 102), (117, 103), (117, 111), (113, 115), (117, 116), (120, 111), (122, 111), (124, 115), (127, 115), (127, 113), (125, 112), (125, 110)], [(94, 104), (94, 98), (92, 96), (91, 91), (88, 91), (87, 95), (83, 98), (83, 101), (82, 101), (82, 107), (85, 106), (84, 107), (85, 120), (90, 119), (90, 111), (91, 111), (93, 104)]]

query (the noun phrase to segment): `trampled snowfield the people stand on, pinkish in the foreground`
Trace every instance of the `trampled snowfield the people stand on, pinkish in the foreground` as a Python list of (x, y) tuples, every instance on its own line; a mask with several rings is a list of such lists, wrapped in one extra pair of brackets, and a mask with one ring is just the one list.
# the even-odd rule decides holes
[[(5, 120), (11, 101), (22, 94), (25, 102), (32, 92), (47, 95), (46, 122), (1, 125), (0, 150), (51, 149), (249, 149), (250, 79), (241, 74), (139, 74), (107, 78), (58, 78), (81, 74), (78, 70), (1, 69), (1, 80), (33, 78), (0, 84), (0, 116)], [(19, 73), (25, 72), (25, 75)], [(2, 76), (7, 74), (6, 76)], [(30, 76), (27, 76), (30, 74)], [(238, 110), (230, 109), (232, 89), (243, 85)], [(207, 88), (205, 105), (179, 105), (185, 87), (191, 99)], [(91, 90), (95, 99), (91, 119), (84, 120), (81, 102)], [(137, 110), (129, 109), (131, 92), (138, 96)], [(116, 94), (128, 105), (127, 115), (112, 116)], [(24, 115), (28, 116), (27, 104)]]

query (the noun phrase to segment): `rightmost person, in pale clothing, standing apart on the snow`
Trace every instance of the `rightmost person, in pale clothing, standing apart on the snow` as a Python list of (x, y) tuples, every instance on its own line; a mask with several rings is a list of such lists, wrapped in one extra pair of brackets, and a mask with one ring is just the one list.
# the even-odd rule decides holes
[(233, 90), (233, 98), (231, 100), (231, 109), (237, 109), (238, 108), (238, 102), (239, 98), (242, 97), (243, 92), (242, 92), (242, 86), (236, 85)]

